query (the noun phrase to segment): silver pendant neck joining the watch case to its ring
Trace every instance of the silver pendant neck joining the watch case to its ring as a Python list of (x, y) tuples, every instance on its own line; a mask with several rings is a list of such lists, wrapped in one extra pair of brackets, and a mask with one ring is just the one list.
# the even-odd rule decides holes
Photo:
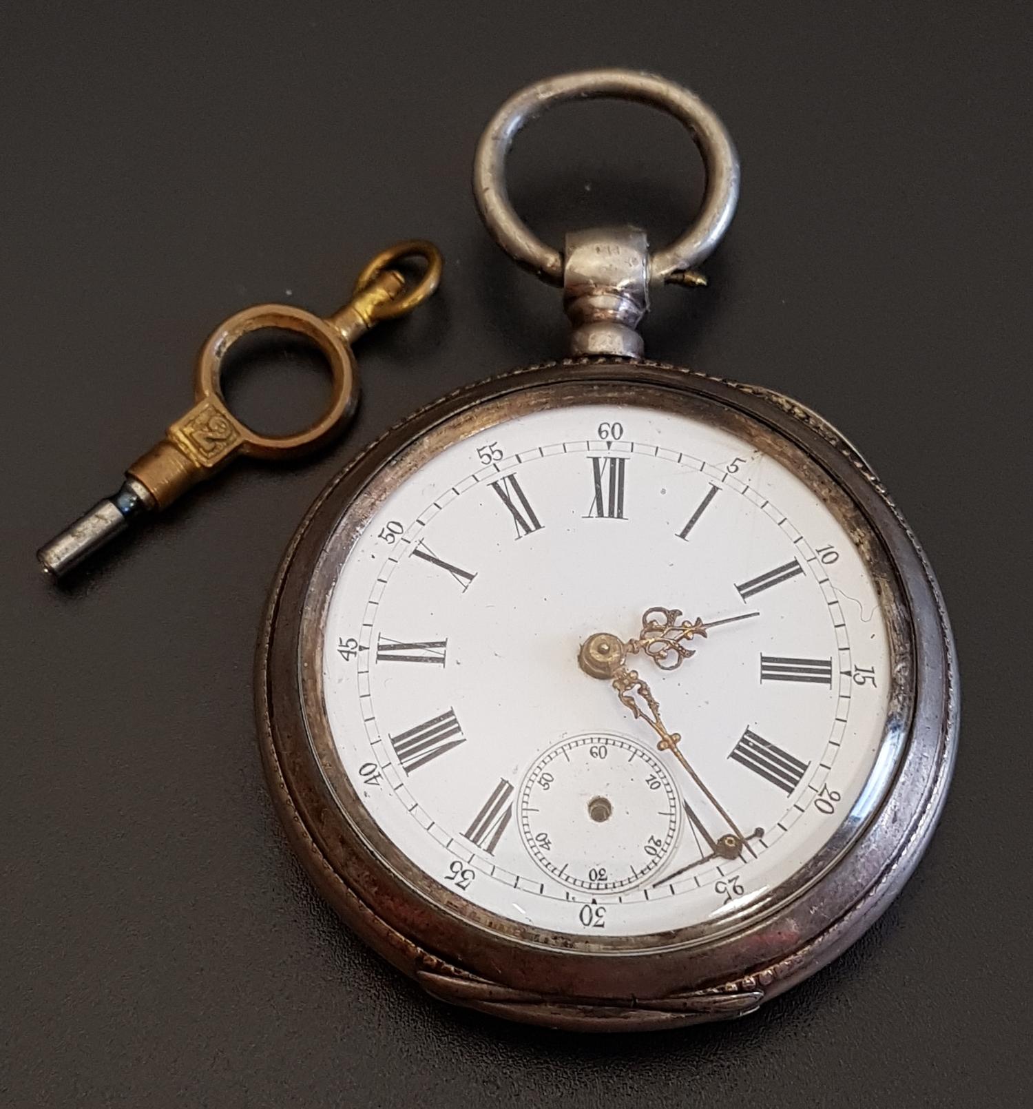
[(571, 355), (641, 358), (638, 324), (650, 308), (650, 255), (638, 227), (566, 236), (563, 302), (574, 326)]

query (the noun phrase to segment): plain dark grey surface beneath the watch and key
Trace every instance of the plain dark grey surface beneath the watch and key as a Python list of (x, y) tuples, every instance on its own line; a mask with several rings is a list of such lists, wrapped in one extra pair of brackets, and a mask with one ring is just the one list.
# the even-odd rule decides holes
[[(1029, 1102), (1031, 32), (1025, 3), (3, 6), (4, 1105)], [(510, 92), (614, 63), (696, 89), (743, 157), (712, 287), (657, 298), (648, 353), (861, 445), (939, 571), (965, 704), (940, 831), (849, 955), (738, 1024), (589, 1039), (431, 1003), (338, 925), (266, 796), (252, 654), (335, 470), (562, 353), (470, 160)], [(513, 165), (554, 241), (622, 217), (665, 240), (698, 187), (677, 126), (620, 105), (555, 113)], [(443, 287), (364, 342), (341, 446), (227, 474), (72, 590), (37, 576), (184, 410), (219, 319), (329, 311), (409, 235), (441, 244)], [(318, 376), (273, 360), (288, 387), (252, 374), (237, 400), (310, 411)]]

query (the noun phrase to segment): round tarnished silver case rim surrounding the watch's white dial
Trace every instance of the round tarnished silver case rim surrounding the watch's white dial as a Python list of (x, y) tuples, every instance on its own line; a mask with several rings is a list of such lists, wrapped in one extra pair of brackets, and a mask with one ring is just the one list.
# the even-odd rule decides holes
[[(335, 755), (321, 695), (325, 606), (389, 486), (449, 444), (543, 407), (605, 396), (684, 410), (756, 441), (821, 496), (869, 561), (892, 637), (882, 757), (827, 846), (720, 927), (606, 940), (560, 936), (474, 908), (379, 831)], [(323, 494), (278, 576), (259, 644), (262, 752), (290, 842), (323, 895), (436, 997), (556, 1028), (615, 1031), (756, 1009), (843, 952), (882, 913), (935, 826), (958, 731), (958, 674), (939, 589), (914, 536), (863, 461), (788, 397), (648, 362), (518, 370), (416, 413)]]

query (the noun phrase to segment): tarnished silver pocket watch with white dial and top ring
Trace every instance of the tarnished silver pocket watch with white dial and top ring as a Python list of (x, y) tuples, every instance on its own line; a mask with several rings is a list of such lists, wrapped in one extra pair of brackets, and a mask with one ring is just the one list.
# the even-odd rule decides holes
[[(675, 116), (707, 185), (650, 254), (561, 255), (504, 162), (574, 98)], [(474, 192), (561, 285), (571, 357), (460, 389), (321, 494), (257, 663), (294, 849), (351, 928), (437, 998), (556, 1028), (748, 1014), (865, 932), (916, 866), (958, 729), (929, 563), (851, 444), (779, 393), (643, 358), (651, 285), (699, 284), (738, 162), (662, 78), (518, 93)]]

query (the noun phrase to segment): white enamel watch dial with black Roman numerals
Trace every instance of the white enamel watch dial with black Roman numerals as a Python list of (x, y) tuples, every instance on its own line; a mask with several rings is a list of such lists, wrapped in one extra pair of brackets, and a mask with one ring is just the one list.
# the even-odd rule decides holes
[[(361, 804), (433, 883), (593, 939), (718, 922), (884, 783), (879, 594), (781, 461), (703, 419), (583, 404), (399, 467), (347, 557), (347, 518), (325, 551), (321, 686)], [(579, 667), (655, 607), (744, 618), (676, 670), (628, 660), (692, 773)]]

